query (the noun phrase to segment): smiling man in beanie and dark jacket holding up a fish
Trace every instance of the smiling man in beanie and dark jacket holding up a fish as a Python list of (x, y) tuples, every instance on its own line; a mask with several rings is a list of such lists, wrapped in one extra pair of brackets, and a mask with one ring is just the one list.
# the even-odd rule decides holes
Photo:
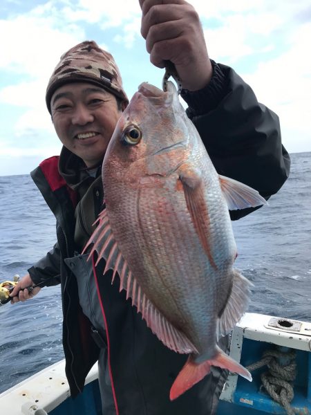
[[(220, 174), (261, 192), (276, 193), (288, 177), (290, 160), (281, 145), (278, 118), (259, 104), (252, 89), (229, 67), (209, 60), (198, 15), (183, 0), (140, 0), (142, 35), (151, 62), (171, 61), (182, 83), (182, 97)], [(63, 344), (72, 396), (99, 361), (105, 415), (201, 415), (216, 412), (226, 372), (213, 368), (180, 398), (169, 389), (187, 356), (170, 351), (140, 315), (81, 255), (102, 210), (102, 159), (115, 123), (128, 103), (113, 57), (95, 42), (64, 54), (50, 77), (46, 104), (64, 147), (32, 172), (57, 219), (57, 243), (30, 268), (12, 292), (12, 302), (37, 294), (26, 286), (62, 284)], [(159, 138), (160, 139), (160, 138)], [(251, 209), (232, 213), (233, 219)], [(19, 291), (21, 290), (21, 291)], [(15, 297), (16, 296), (16, 297)], [(226, 349), (226, 338), (221, 346)]]

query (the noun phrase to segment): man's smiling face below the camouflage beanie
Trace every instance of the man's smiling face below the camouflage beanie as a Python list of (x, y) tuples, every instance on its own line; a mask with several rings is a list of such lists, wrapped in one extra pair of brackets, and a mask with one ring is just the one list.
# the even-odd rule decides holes
[(51, 111), (63, 145), (87, 167), (100, 163), (122, 114), (115, 96), (88, 82), (66, 84), (53, 94)]

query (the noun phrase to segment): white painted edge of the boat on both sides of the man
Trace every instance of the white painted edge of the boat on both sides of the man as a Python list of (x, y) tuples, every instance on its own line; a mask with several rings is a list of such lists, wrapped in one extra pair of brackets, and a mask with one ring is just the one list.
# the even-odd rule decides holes
[[(285, 322), (285, 326), (282, 325)], [(281, 324), (279, 324), (281, 323)], [(311, 322), (245, 313), (232, 333), (230, 356), (240, 361), (243, 338), (311, 351)], [(97, 364), (86, 378), (86, 385), (98, 376)], [(237, 376), (230, 375), (220, 399), (231, 401)], [(65, 375), (65, 361), (50, 365), (0, 394), (1, 414), (44, 415), (70, 396)]]

